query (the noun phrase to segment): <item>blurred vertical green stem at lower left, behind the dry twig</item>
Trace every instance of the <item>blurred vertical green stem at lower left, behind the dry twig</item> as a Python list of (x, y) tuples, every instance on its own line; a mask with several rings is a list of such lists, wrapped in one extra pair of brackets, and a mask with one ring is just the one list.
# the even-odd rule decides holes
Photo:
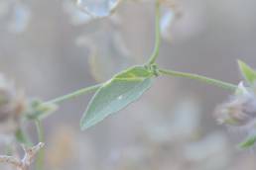
[[(45, 142), (45, 134), (44, 134), (44, 128), (42, 126), (42, 123), (40, 120), (36, 120), (35, 122), (36, 127), (37, 127), (37, 132), (39, 135), (39, 141), (40, 142)], [(44, 169), (44, 161), (45, 161), (45, 150), (42, 149), (39, 151), (37, 160), (36, 160), (36, 169), (37, 170), (43, 170)]]

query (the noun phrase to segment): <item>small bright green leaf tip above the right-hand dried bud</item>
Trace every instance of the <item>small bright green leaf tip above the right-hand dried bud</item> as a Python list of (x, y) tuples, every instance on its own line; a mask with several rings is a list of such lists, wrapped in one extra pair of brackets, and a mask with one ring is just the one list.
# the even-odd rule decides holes
[(250, 85), (254, 85), (254, 83), (256, 81), (256, 71), (241, 60), (238, 60), (238, 65), (239, 65), (240, 71), (241, 71), (243, 77), (245, 78), (245, 80)]

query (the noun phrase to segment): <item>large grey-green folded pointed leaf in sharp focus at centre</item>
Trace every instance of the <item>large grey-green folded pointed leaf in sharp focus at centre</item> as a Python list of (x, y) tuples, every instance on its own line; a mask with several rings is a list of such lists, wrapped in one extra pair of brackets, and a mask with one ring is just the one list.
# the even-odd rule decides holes
[(92, 127), (136, 101), (150, 88), (153, 73), (143, 66), (131, 67), (97, 90), (80, 120), (81, 129)]

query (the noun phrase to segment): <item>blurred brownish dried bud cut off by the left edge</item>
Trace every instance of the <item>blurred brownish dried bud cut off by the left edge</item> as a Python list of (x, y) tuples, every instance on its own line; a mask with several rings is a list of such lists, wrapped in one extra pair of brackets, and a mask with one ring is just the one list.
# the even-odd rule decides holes
[(25, 110), (24, 93), (0, 74), (0, 133), (13, 133)]

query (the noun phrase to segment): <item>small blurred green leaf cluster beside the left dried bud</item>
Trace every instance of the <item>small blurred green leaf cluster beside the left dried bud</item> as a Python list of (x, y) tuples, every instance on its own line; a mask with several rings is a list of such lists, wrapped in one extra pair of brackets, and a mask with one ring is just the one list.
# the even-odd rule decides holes
[(30, 120), (43, 120), (53, 112), (56, 112), (58, 106), (52, 103), (44, 103), (41, 100), (33, 100), (30, 102), (26, 116)]

